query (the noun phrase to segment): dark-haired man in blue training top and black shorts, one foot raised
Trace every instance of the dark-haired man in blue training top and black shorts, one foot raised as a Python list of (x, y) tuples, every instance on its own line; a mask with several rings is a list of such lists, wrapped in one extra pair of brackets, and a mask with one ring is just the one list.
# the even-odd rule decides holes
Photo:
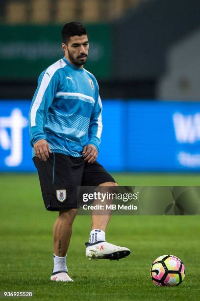
[[(78, 22), (65, 24), (62, 39), (64, 58), (38, 79), (29, 129), (45, 207), (59, 211), (53, 227), (50, 279), (73, 281), (68, 275), (66, 253), (77, 212), (76, 187), (117, 183), (96, 161), (102, 106), (97, 80), (83, 68), (89, 49), (87, 30)], [(89, 259), (118, 260), (130, 254), (129, 249), (105, 241), (109, 219), (110, 215), (92, 215), (92, 230), (86, 243)]]

